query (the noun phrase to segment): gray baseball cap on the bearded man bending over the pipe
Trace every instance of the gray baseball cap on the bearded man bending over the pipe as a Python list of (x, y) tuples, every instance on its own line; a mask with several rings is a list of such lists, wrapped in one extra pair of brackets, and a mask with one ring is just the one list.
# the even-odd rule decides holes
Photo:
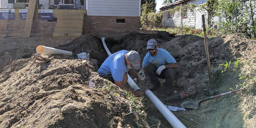
[(140, 69), (140, 55), (136, 51), (130, 51), (127, 53), (127, 58), (130, 60), (134, 69)]

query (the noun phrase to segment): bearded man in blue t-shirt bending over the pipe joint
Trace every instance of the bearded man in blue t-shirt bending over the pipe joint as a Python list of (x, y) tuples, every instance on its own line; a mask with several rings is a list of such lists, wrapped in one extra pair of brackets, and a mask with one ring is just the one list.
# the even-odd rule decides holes
[[(109, 81), (115, 83), (121, 89), (129, 91), (125, 86), (128, 80), (128, 75), (137, 77), (137, 73), (133, 70), (140, 69), (140, 55), (136, 51), (121, 50), (111, 54), (102, 63), (98, 70), (98, 74), (103, 78), (108, 78)], [(141, 91), (132, 91), (136, 96), (143, 96)]]

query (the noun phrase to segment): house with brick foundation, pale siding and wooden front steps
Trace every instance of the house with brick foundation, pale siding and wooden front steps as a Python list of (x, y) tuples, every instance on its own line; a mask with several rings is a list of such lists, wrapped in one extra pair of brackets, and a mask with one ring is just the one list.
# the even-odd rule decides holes
[[(73, 0), (39, 0), (39, 4), (42, 4), (43, 8), (49, 5), (58, 5), (60, 8), (66, 7), (66, 9), (53, 9), (53, 20), (38, 20), (38, 10), (36, 9), (31, 33), (52, 35), (52, 33), (56, 32), (66, 32), (64, 34), (66, 37), (67, 35), (72, 35), (71, 32), (81, 31), (81, 34), (91, 34), (97, 37), (113, 37), (117, 39), (140, 29), (140, 1), (141, 0), (81, 0), (81, 10), (73, 10)], [(22, 2), (26, 3), (28, 0), (0, 0), (0, 7), (13, 7), (13, 3)], [(60, 2), (62, 4), (59, 4)], [(84, 13), (84, 15), (81, 15), (81, 13)], [(65, 22), (64, 20), (69, 21)], [(79, 26), (78, 23), (81, 23), (80, 26), (82, 26), (82, 28), (79, 27), (76, 30), (72, 28), (71, 30), (70, 27), (74, 26), (71, 25), (72, 20), (81, 20), (75, 22), (76, 26)], [(66, 23), (66, 25), (64, 25), (64, 23)], [(0, 20), (1, 36), (6, 34), (6, 24), (7, 20)], [(15, 9), (15, 20), (10, 21), (9, 35), (22, 35), (24, 24), (25, 20), (19, 19), (19, 9)], [(70, 30), (70, 32), (68, 33), (67, 30)]]

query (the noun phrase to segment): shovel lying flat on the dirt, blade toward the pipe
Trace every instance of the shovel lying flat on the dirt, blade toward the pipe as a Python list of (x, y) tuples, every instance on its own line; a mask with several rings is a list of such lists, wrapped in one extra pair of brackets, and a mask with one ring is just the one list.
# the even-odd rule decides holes
[(229, 92), (222, 93), (222, 94), (215, 95), (215, 96), (211, 96), (211, 97), (199, 100), (199, 101), (186, 101), (186, 102), (182, 103), (180, 106), (182, 106), (184, 108), (197, 109), (200, 106), (200, 103), (203, 102), (203, 101), (208, 101), (208, 100), (211, 100), (211, 99), (214, 99), (214, 98), (218, 98), (218, 97), (221, 97), (221, 96), (232, 94), (232, 93), (238, 92), (240, 90), (241, 89), (234, 90), (234, 91), (229, 91)]

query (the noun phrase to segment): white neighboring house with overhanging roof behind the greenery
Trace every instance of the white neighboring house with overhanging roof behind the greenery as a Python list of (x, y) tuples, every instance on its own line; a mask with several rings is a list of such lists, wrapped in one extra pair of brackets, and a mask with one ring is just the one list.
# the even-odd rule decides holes
[[(184, 6), (190, 5), (190, 3), (194, 3), (196, 5), (204, 4), (207, 0), (179, 0), (170, 5), (161, 7), (160, 10), (165, 11), (168, 9), (175, 8), (176, 6)], [(183, 13), (181, 11), (176, 11), (174, 13), (164, 13), (164, 25), (165, 27), (194, 27), (201, 28), (202, 27), (202, 14), (203, 11), (198, 11), (199, 7), (195, 7), (191, 12), (190, 9), (184, 10)], [(182, 14), (182, 15), (181, 15)]]

